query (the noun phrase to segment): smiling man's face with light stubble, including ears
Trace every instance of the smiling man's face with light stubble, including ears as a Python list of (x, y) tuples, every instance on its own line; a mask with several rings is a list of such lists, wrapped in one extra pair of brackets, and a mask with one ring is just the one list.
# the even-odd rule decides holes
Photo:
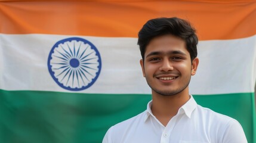
[(164, 35), (152, 39), (146, 47), (143, 60), (140, 61), (143, 76), (152, 88), (160, 95), (175, 95), (188, 85), (195, 75), (199, 60), (190, 60), (186, 43), (175, 36)]

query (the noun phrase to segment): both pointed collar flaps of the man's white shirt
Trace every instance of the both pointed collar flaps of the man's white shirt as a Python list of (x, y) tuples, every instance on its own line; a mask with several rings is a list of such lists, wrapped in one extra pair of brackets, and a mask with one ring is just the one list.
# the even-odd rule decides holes
[[(145, 117), (144, 117), (144, 122), (146, 122), (146, 120), (149, 118), (149, 116), (153, 116), (153, 113), (151, 111), (151, 105), (152, 105), (152, 100), (149, 101), (149, 103), (147, 104), (147, 110), (146, 110), (146, 114), (145, 114)], [(184, 105), (182, 105), (179, 110), (178, 110), (178, 113), (177, 114), (183, 114), (185, 113), (187, 117), (191, 117), (191, 114), (192, 112), (195, 110), (196, 108), (196, 105), (198, 105), (196, 103), (196, 101), (194, 100), (193, 96), (190, 95), (190, 99), (189, 101), (187, 101)]]

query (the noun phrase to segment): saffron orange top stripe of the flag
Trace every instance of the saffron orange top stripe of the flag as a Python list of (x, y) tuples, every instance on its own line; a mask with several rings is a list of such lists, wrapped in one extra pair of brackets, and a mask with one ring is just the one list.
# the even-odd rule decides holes
[(238, 39), (256, 34), (255, 7), (254, 1), (2, 1), (0, 33), (136, 38), (150, 18), (180, 17), (201, 40)]

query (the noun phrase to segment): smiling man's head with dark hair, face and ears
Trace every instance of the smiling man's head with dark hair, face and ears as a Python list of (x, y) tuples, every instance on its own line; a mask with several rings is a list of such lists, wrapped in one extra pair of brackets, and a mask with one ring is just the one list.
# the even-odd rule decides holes
[(140, 64), (152, 94), (188, 95), (199, 63), (198, 38), (190, 24), (179, 18), (156, 18), (147, 21), (138, 36)]

